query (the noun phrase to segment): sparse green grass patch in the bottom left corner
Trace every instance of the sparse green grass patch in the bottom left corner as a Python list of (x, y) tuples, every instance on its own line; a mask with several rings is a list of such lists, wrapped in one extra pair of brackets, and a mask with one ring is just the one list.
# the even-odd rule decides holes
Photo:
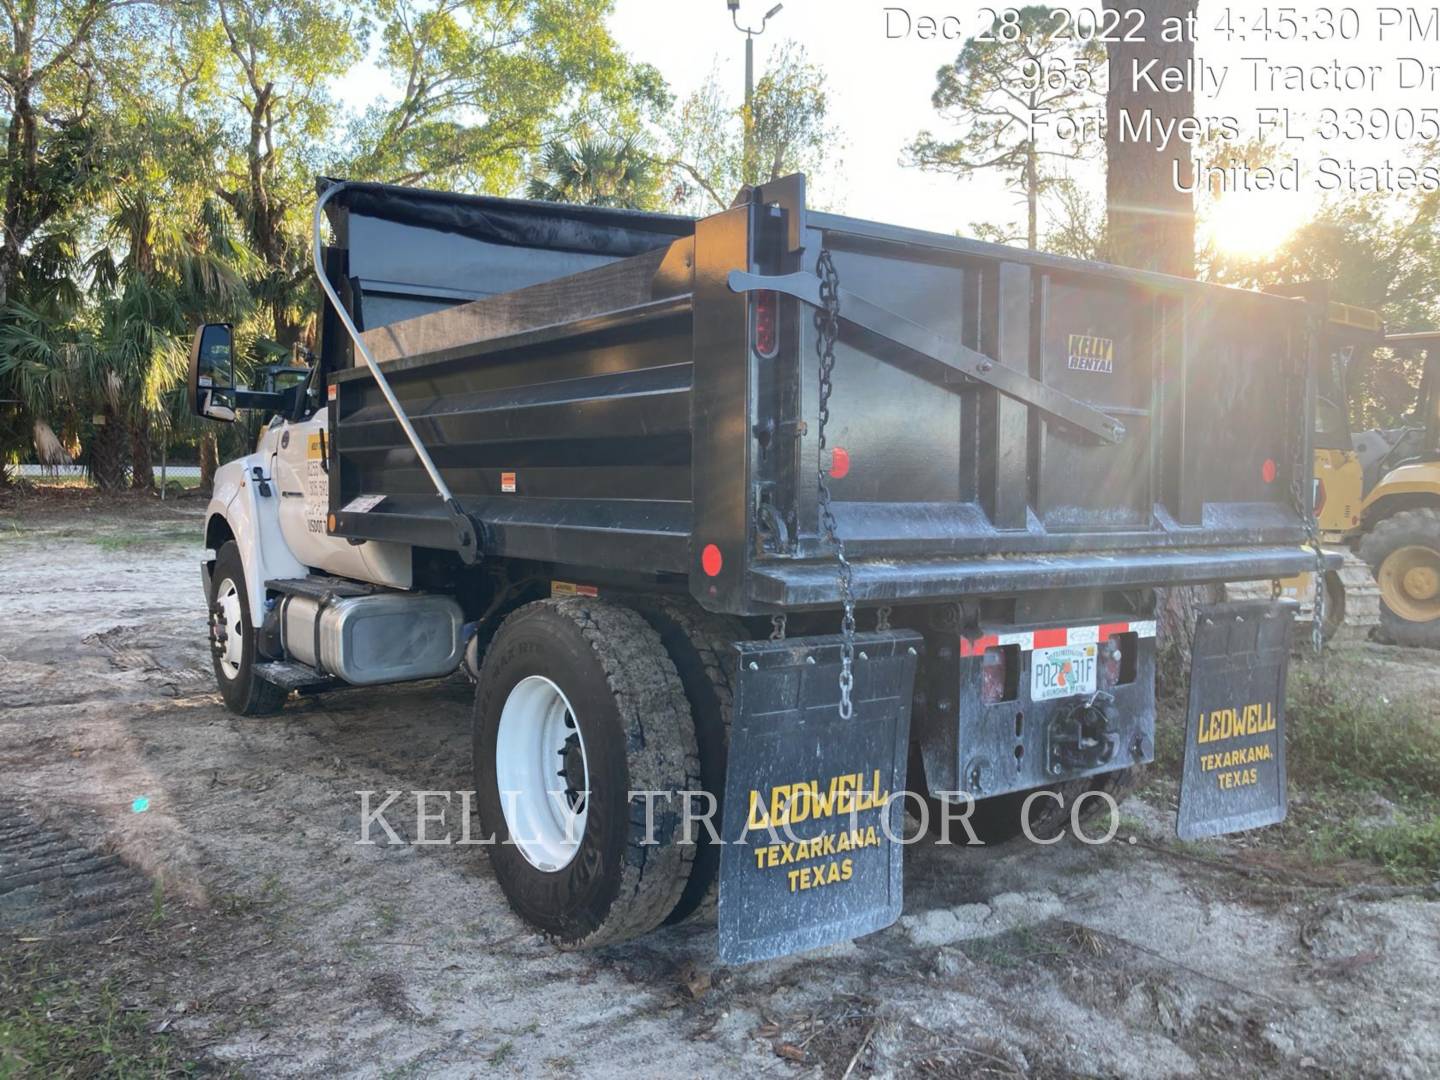
[(194, 1076), (154, 1017), (127, 1008), (111, 982), (60, 978), (37, 960), (0, 960), (0, 1080)]

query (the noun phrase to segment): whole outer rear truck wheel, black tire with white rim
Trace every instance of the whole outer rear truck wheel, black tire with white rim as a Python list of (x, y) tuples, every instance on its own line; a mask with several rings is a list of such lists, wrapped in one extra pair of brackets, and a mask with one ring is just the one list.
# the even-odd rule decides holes
[[(564, 948), (636, 937), (675, 910), (696, 847), (674, 792), (698, 791), (675, 665), (636, 612), (566, 598), (520, 608), (475, 688), (475, 791), (516, 913)], [(652, 796), (647, 837), (644, 798)]]

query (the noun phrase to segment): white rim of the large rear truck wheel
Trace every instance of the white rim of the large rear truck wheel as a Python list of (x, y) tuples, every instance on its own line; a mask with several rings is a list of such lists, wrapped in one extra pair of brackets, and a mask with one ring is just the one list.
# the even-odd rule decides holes
[(495, 737), (495, 783), (511, 842), (536, 870), (570, 865), (590, 806), (590, 765), (570, 700), (544, 675), (520, 680)]

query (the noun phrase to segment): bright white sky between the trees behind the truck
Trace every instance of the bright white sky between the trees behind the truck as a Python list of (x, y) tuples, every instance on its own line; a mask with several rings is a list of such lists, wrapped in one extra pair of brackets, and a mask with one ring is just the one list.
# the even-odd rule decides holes
[[(742, 24), (757, 24), (773, 0), (742, 0)], [(998, 4), (1004, 6), (1004, 4)], [(1092, 4), (1099, 7), (1096, 1)], [(1289, 0), (1287, 4), (1237, 3), (1236, 12), (1250, 19), (1269, 7), (1272, 14), (1282, 7), (1297, 9), (1313, 16), (1322, 4)], [(1333, 4), (1325, 4), (1335, 7)], [(1081, 4), (1071, 6), (1071, 10)], [(1358, 6), (1358, 33), (1346, 43), (1320, 43), (1312, 39), (1318, 27), (1305, 23), (1306, 40), (1282, 43), (1253, 27), (1231, 23), (1230, 40), (1215, 30), (1215, 22), (1225, 6), (1202, 0), (1198, 22), (1197, 50), (1202, 60), (1230, 69), (1218, 94), (1204, 91), (1197, 99), (1200, 114), (1238, 114), (1246, 134), (1254, 131), (1257, 107), (1289, 107), (1305, 112), (1312, 121), (1326, 107), (1361, 105), (1385, 109), (1391, 117), (1397, 107), (1414, 112), (1440, 104), (1440, 94), (1421, 89), (1400, 92), (1392, 86), (1394, 63), (1401, 56), (1440, 65), (1440, 43), (1416, 40), (1407, 27), (1390, 27), (1381, 40), (1377, 10), (1367, 0)], [(1424, 6), (1421, 6), (1424, 7)], [(893, 10), (903, 9), (912, 27), (922, 14), (960, 17), (963, 33), (979, 29), (981, 6), (973, 0), (939, 0), (927, 4), (904, 4), (903, 0), (786, 0), (783, 10), (770, 20), (762, 37), (756, 39), (757, 76), (763, 71), (769, 50), (792, 37), (802, 42), (809, 59), (829, 76), (827, 91), (831, 117), (841, 131), (840, 164), (828, 170), (819, 194), (831, 209), (860, 217), (876, 217), (897, 225), (965, 232), (971, 222), (1018, 220), (1021, 207), (996, 174), (956, 179), (901, 167), (903, 147), (916, 132), (930, 128), (945, 131), (943, 122), (930, 107), (936, 71), (955, 59), (960, 39), (920, 40), (916, 33), (899, 33), (904, 17)], [(730, 20), (721, 0), (618, 0), (611, 20), (621, 45), (639, 60), (655, 65), (670, 82), (677, 96), (700, 85), (713, 66), (721, 84), (734, 88), (734, 99), (743, 98), (744, 36)], [(1244, 40), (1240, 40), (1241, 35)], [(1297, 35), (1299, 37), (1299, 35)], [(1375, 91), (1289, 91), (1283, 86), (1257, 91), (1251, 79), (1254, 58), (1263, 65), (1328, 65), (1332, 59), (1354, 65), (1381, 65), (1381, 86)], [(1384, 158), (1405, 160), (1407, 148), (1394, 138), (1341, 140), (1319, 143), (1313, 135), (1303, 143), (1287, 143), (1286, 156), (1293, 153), (1306, 166), (1322, 154), (1354, 158), (1358, 163), (1378, 163)], [(1103, 186), (1103, 157), (1079, 167), (1083, 183), (1094, 190)], [(1296, 226), (1312, 217), (1323, 196), (1306, 186), (1299, 193), (1269, 192), (1234, 194), (1215, 209), (1211, 229), (1231, 249), (1263, 251), (1280, 243)]]

